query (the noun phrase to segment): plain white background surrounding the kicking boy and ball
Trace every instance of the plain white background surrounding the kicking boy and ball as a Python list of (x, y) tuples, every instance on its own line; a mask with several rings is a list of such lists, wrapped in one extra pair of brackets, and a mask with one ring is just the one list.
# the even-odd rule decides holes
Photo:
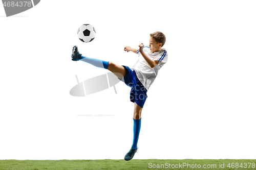
[[(0, 6), (0, 159), (123, 159), (133, 141), (130, 89), (74, 97), (109, 72), (84, 56), (132, 67), (124, 46), (166, 35), (168, 62), (142, 110), (134, 159), (256, 159), (255, 1), (41, 1), (6, 17)], [(90, 23), (96, 38), (81, 42)], [(86, 115), (113, 116), (86, 116)], [(84, 115), (84, 116), (78, 116)]]

